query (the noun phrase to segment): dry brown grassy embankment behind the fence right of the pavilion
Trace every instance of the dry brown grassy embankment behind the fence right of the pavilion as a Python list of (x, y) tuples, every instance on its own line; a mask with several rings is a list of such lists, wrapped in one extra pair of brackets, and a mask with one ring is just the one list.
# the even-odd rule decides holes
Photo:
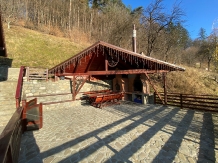
[[(184, 66), (183, 66), (184, 67)], [(167, 75), (167, 90), (171, 93), (218, 95), (218, 74), (203, 69), (186, 67), (184, 72), (170, 72)], [(152, 81), (163, 92), (161, 76)]]

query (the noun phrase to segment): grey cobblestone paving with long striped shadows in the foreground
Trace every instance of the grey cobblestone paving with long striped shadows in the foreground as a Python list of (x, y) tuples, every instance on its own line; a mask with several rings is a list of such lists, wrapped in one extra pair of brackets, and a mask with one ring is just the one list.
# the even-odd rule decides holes
[(217, 114), (122, 103), (43, 116), (42, 129), (24, 133), (19, 163), (217, 162)]

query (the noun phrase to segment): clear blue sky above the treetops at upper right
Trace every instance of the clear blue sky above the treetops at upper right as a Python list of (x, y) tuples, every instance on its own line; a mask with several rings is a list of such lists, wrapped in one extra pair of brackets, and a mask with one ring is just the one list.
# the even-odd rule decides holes
[[(152, 0), (122, 0), (132, 9), (142, 6), (146, 8)], [(163, 0), (166, 10), (170, 11), (176, 1)], [(178, 1), (177, 1), (178, 2)], [(190, 37), (198, 37), (200, 28), (206, 30), (207, 35), (212, 32), (212, 24), (218, 20), (218, 0), (181, 0), (180, 8), (184, 11), (186, 20), (183, 26), (189, 31)]]

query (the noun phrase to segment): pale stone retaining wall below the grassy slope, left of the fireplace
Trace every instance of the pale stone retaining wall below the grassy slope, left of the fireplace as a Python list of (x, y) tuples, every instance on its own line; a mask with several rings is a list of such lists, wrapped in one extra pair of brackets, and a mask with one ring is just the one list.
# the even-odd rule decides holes
[[(39, 96), (45, 94), (62, 94), (62, 93), (72, 93), (71, 90), (72, 83), (70, 80), (59, 80), (56, 82), (52, 81), (25, 81), (23, 83), (23, 98), (29, 98), (30, 96)], [(111, 89), (111, 81), (87, 81), (80, 92)], [(76, 98), (78, 99), (82, 93), (79, 93)], [(37, 97), (38, 102), (55, 102), (63, 100), (72, 100), (72, 95), (57, 95), (57, 96), (46, 96)]]

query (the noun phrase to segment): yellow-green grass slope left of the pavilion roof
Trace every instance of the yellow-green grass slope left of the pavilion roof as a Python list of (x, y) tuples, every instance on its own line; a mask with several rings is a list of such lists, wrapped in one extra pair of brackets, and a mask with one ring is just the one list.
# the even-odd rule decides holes
[(12, 67), (51, 68), (88, 46), (19, 26), (4, 29), (8, 57), (13, 59)]

